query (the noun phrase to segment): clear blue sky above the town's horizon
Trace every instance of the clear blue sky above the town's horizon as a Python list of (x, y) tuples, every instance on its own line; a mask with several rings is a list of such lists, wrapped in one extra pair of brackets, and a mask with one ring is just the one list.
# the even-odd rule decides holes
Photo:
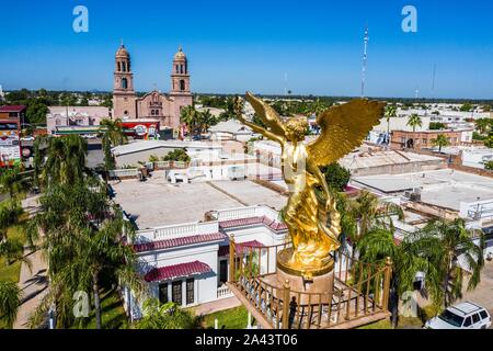
[[(89, 33), (72, 31), (78, 4)], [(401, 30), (406, 4), (417, 33)], [(2, 1), (0, 84), (110, 90), (123, 38), (139, 91), (169, 90), (182, 44), (195, 92), (280, 94), (287, 73), (294, 94), (358, 95), (368, 23), (367, 95), (492, 99), (491, 13), (483, 0)]]

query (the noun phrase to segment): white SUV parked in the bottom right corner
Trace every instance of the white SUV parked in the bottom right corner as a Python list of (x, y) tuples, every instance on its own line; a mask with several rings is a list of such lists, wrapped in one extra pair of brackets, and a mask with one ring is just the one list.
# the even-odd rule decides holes
[(491, 316), (478, 304), (465, 302), (447, 307), (439, 316), (426, 321), (426, 329), (488, 329)]

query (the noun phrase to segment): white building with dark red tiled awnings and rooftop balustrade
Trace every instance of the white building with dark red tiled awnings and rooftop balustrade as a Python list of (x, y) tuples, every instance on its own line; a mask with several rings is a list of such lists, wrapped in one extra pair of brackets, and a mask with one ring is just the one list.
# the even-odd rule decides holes
[[(139, 260), (137, 270), (149, 284), (151, 296), (191, 307), (232, 296), (225, 284), (232, 236), (238, 250), (248, 247), (248, 256), (256, 248), (285, 242), (287, 233), (276, 210), (254, 205), (209, 211), (200, 222), (138, 230), (133, 245)], [(256, 259), (274, 267), (275, 254), (267, 251), (259, 249)], [(128, 288), (124, 299), (131, 317), (139, 318), (141, 302)]]

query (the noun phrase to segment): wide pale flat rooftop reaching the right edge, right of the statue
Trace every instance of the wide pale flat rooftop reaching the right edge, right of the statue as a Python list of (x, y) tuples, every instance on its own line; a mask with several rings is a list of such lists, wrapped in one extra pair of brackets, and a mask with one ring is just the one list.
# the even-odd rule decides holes
[(493, 199), (493, 179), (450, 169), (355, 177), (353, 184), (383, 194), (421, 190), (421, 201), (458, 211), (460, 202)]

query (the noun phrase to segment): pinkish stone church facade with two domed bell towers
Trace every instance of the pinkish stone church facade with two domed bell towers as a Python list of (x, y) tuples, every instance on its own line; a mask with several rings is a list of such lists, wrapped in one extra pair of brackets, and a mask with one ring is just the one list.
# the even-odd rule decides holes
[(113, 116), (123, 121), (156, 120), (160, 127), (177, 128), (183, 107), (192, 105), (188, 61), (180, 47), (173, 58), (169, 94), (158, 90), (137, 97), (130, 54), (122, 44), (115, 55)]

